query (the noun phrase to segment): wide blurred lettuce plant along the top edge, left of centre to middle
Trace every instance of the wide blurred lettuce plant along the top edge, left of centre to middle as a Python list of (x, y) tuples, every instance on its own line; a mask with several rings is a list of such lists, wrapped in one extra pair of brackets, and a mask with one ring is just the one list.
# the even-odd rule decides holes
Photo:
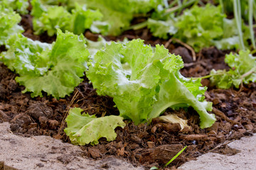
[[(54, 27), (60, 28), (60, 25), (55, 24), (56, 21), (58, 23), (62, 23), (60, 20), (66, 20), (70, 21), (71, 16), (67, 16), (66, 11), (81, 11), (81, 9), (77, 9), (78, 6), (81, 8), (81, 6), (86, 6), (88, 9), (85, 10), (85, 7), (83, 7), (84, 11), (91, 11), (91, 12), (82, 12), (83, 14), (80, 17), (76, 18), (78, 22), (77, 24), (73, 24), (72, 26), (78, 27), (82, 26), (82, 23), (84, 23), (84, 20), (95, 19), (94, 22), (92, 22), (91, 26), (85, 26), (86, 29), (92, 30), (93, 33), (102, 33), (103, 35), (119, 35), (122, 33), (122, 31), (127, 28), (130, 25), (130, 21), (132, 21), (132, 18), (134, 17), (134, 14), (142, 13), (146, 14), (152, 9), (157, 8), (160, 4), (163, 4), (162, 0), (124, 0), (124, 1), (118, 1), (118, 0), (96, 0), (96, 1), (90, 1), (90, 0), (58, 0), (58, 1), (52, 1), (52, 0), (32, 0), (31, 4), (33, 6), (32, 9), (32, 15), (36, 16), (36, 20), (33, 21), (33, 25), (36, 27), (36, 32), (38, 32), (38, 28), (43, 29), (44, 27), (49, 27), (50, 23), (52, 26), (51, 29), (55, 30)], [(60, 11), (60, 6), (50, 6), (50, 5), (58, 5), (62, 4), (65, 8), (61, 9), (63, 15), (58, 14), (58, 11)], [(76, 5), (79, 4), (79, 5)], [(63, 7), (61, 6), (61, 7)], [(43, 9), (44, 8), (44, 9)], [(54, 12), (49, 12), (47, 8), (55, 8)], [(94, 9), (94, 10), (92, 10)], [(93, 11), (93, 13), (92, 13)], [(40, 14), (43, 12), (43, 16)], [(99, 14), (100, 13), (100, 14)], [(65, 15), (64, 15), (65, 14)], [(73, 14), (73, 12), (71, 13)], [(59, 17), (61, 16), (61, 17)], [(99, 18), (100, 16), (100, 18)], [(46, 22), (46, 20), (52, 19), (52, 17), (55, 18), (55, 21), (50, 21), (50, 23), (43, 23)], [(72, 18), (72, 17), (71, 17)], [(86, 21), (87, 22), (87, 21)], [(44, 26), (46, 25), (46, 26)], [(77, 26), (78, 25), (78, 26)], [(72, 27), (71, 26), (71, 27)], [(82, 29), (82, 27), (78, 27)], [(60, 28), (62, 29), (62, 28)], [(49, 28), (48, 28), (49, 30)], [(62, 29), (63, 30), (63, 29)], [(73, 30), (69, 30), (73, 32)]]

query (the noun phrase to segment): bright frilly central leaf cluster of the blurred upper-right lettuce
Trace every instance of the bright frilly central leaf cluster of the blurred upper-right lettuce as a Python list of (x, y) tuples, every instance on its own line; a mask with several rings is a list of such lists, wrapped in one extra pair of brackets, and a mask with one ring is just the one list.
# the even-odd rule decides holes
[(212, 40), (223, 36), (223, 19), (221, 7), (207, 4), (205, 7), (193, 6), (184, 11), (175, 26), (178, 28), (176, 38), (191, 45), (196, 52), (202, 47), (213, 45)]

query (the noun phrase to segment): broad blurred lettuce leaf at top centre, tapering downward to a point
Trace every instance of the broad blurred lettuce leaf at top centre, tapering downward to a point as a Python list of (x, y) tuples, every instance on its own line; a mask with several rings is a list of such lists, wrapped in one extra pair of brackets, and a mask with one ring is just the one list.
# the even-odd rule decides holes
[(163, 2), (161, 0), (76, 0), (89, 8), (100, 9), (103, 21), (110, 24), (108, 35), (119, 35), (127, 28), (136, 13), (147, 13)]

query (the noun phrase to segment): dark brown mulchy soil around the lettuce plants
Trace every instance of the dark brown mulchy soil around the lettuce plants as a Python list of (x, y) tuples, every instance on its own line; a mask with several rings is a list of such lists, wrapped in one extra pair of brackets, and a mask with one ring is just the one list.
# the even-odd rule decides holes
[[(28, 38), (42, 42), (55, 40), (55, 37), (49, 38), (46, 34), (33, 35), (31, 16), (29, 15), (22, 17), (21, 25), (26, 30), (23, 35)], [(85, 36), (90, 40), (97, 40), (97, 35), (89, 31), (85, 33)], [(142, 38), (146, 44), (151, 45), (166, 44), (165, 40), (153, 38), (147, 29), (127, 31), (117, 38), (105, 38), (107, 40), (122, 40), (124, 37)], [(201, 50), (197, 54), (196, 62), (193, 62), (191, 52), (185, 47), (171, 44), (168, 48), (170, 52), (183, 57), (185, 67), (181, 73), (185, 77), (201, 77), (208, 74), (211, 69), (228, 69), (224, 62), (227, 52), (217, 50), (215, 47)], [(4, 47), (0, 49), (1, 51), (5, 50)], [(92, 84), (86, 77), (75, 88), (73, 94), (58, 101), (46, 94), (43, 98), (31, 98), (28, 93), (22, 94), (21, 91), (24, 87), (16, 84), (15, 77), (14, 72), (0, 63), (0, 123), (10, 122), (11, 131), (17, 135), (27, 137), (49, 135), (69, 142), (63, 132), (63, 128), (65, 128), (63, 119), (68, 108), (80, 107), (85, 112), (95, 114), (97, 117), (119, 114), (117, 108), (113, 107), (112, 98), (97, 96), (95, 89), (92, 89)], [(193, 108), (188, 108), (188, 111), (167, 109), (164, 114), (177, 114), (188, 120), (188, 125), (192, 129), (180, 131), (179, 125), (163, 123), (157, 118), (149, 125), (136, 126), (127, 121), (127, 126), (124, 129), (117, 128), (117, 139), (113, 142), (101, 139), (99, 145), (83, 146), (85, 155), (93, 159), (114, 155), (121, 159), (127, 159), (134, 165), (151, 167), (166, 164), (184, 146), (188, 146), (185, 152), (169, 166), (175, 169), (184, 162), (195, 159), (206, 152), (234, 154), (235, 151), (225, 147), (227, 141), (240, 139), (240, 137), (256, 132), (256, 84), (245, 85), (242, 89), (228, 90), (210, 86), (208, 79), (203, 79), (202, 84), (208, 86), (206, 100), (213, 102), (212, 112), (217, 118), (213, 127), (200, 129), (198, 114), (193, 111)]]

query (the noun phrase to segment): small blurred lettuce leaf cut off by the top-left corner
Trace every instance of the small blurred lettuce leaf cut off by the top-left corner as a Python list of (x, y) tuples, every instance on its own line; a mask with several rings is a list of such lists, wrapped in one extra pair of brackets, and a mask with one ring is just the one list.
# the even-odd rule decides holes
[(28, 0), (1, 0), (0, 5), (5, 8), (12, 8), (21, 14), (28, 13)]

